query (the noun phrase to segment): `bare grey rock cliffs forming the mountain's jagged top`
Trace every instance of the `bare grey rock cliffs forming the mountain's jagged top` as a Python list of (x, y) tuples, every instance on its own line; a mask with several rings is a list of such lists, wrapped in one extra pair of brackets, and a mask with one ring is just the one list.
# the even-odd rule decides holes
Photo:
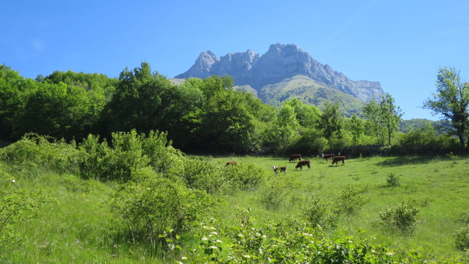
[(204, 51), (187, 72), (175, 78), (206, 78), (212, 75), (230, 75), (235, 85), (250, 85), (257, 91), (285, 78), (305, 75), (366, 102), (384, 94), (379, 82), (352, 81), (293, 44), (273, 44), (262, 56), (247, 50), (228, 53), (218, 59), (213, 52)]

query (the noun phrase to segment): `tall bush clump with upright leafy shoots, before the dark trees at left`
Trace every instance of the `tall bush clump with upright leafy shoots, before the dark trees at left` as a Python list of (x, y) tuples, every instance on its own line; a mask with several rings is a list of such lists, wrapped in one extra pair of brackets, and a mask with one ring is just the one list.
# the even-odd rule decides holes
[(182, 153), (171, 146), (165, 133), (150, 131), (149, 136), (128, 133), (112, 134), (112, 147), (98, 136), (88, 135), (80, 144), (80, 171), (85, 179), (128, 181), (132, 173), (140, 168), (151, 166), (154, 171), (164, 174), (177, 174), (177, 160)]

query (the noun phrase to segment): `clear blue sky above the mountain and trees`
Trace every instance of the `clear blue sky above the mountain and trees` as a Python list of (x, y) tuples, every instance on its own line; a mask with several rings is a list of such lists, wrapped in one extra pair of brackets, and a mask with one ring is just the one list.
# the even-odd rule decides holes
[(4, 1), (0, 64), (118, 77), (147, 61), (172, 78), (218, 57), (295, 44), (354, 81), (378, 81), (404, 119), (439, 120), (423, 102), (440, 67), (469, 77), (469, 2), (316, 0)]

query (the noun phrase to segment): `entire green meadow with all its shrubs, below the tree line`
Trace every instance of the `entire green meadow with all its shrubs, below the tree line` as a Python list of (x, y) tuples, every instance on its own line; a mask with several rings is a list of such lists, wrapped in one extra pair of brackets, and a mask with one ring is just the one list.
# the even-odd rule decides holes
[(288, 157), (191, 156), (131, 131), (109, 145), (28, 135), (0, 157), (2, 261), (469, 261), (464, 156), (338, 167), (311, 156), (311, 171), (295, 171)]

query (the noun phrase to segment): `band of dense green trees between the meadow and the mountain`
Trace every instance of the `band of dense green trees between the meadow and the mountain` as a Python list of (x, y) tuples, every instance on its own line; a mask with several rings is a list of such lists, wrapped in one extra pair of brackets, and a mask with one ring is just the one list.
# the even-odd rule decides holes
[(35, 80), (0, 65), (0, 139), (14, 142), (36, 133), (66, 141), (81, 142), (90, 134), (109, 140), (135, 129), (164, 131), (187, 153), (449, 152), (469, 144), (468, 89), (455, 69), (439, 70), (437, 92), (423, 107), (451, 121), (452, 129), (440, 135), (430, 124), (399, 132), (402, 112), (389, 93), (345, 117), (340, 102), (325, 103), (322, 110), (297, 99), (280, 107), (263, 104), (233, 89), (229, 76), (174, 84), (147, 62), (125, 68), (118, 78), (55, 71)]

